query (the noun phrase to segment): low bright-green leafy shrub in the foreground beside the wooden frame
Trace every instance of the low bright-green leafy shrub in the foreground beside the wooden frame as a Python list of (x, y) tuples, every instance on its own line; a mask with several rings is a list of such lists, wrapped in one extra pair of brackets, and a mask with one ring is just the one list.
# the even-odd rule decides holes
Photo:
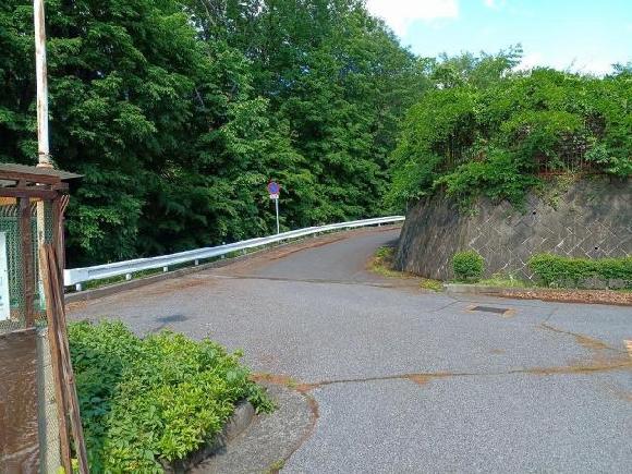
[(211, 341), (87, 321), (71, 324), (69, 339), (92, 472), (162, 472), (158, 460), (195, 451), (240, 400), (272, 409), (240, 354)]

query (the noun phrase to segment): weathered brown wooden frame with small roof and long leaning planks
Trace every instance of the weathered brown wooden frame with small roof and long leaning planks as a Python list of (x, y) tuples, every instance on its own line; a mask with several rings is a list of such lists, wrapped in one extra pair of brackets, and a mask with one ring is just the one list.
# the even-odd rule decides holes
[[(56, 388), (60, 461), (66, 473), (73, 472), (70, 424), (78, 471), (84, 474), (88, 472), (87, 454), (68, 344), (62, 283), (65, 262), (63, 216), (69, 202), (69, 181), (76, 178), (80, 175), (52, 168), (0, 163), (0, 208), (7, 207), (11, 218), (17, 220), (14, 223), (17, 235), (13, 240), (12, 251), (21, 255), (20, 264), (14, 260), (15, 268), (22, 272), (21, 284), (14, 290), (21, 293), (21, 326), (23, 329), (34, 328), (36, 320), (42, 316), (42, 308), (38, 312), (35, 307), (39, 277), (42, 287), (39, 291), (46, 301), (45, 317)], [(39, 297), (41, 302), (42, 294)]]

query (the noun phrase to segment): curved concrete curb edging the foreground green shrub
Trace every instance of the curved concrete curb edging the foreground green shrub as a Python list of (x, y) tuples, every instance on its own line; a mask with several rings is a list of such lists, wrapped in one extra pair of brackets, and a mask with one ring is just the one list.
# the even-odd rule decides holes
[(255, 409), (250, 402), (240, 403), (236, 405), (233, 415), (229, 418), (223, 429), (200, 449), (183, 460), (173, 462), (161, 461), (165, 472), (168, 474), (180, 474), (191, 471), (207, 458), (224, 449), (228, 442), (245, 432), (253, 422), (254, 416)]

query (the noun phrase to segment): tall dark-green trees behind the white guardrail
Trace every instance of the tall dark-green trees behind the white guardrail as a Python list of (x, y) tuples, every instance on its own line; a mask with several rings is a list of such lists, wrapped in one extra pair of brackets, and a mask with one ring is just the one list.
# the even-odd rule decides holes
[[(424, 62), (360, 0), (48, 0), (71, 265), (381, 211)], [(0, 4), (0, 160), (35, 163), (33, 2)]]

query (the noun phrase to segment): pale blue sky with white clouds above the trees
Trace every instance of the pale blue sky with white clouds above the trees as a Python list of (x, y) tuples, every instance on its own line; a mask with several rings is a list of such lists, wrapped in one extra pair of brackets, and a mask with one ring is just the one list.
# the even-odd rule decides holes
[(632, 61), (632, 0), (366, 0), (421, 56), (497, 52), (521, 44), (520, 68), (606, 74)]

